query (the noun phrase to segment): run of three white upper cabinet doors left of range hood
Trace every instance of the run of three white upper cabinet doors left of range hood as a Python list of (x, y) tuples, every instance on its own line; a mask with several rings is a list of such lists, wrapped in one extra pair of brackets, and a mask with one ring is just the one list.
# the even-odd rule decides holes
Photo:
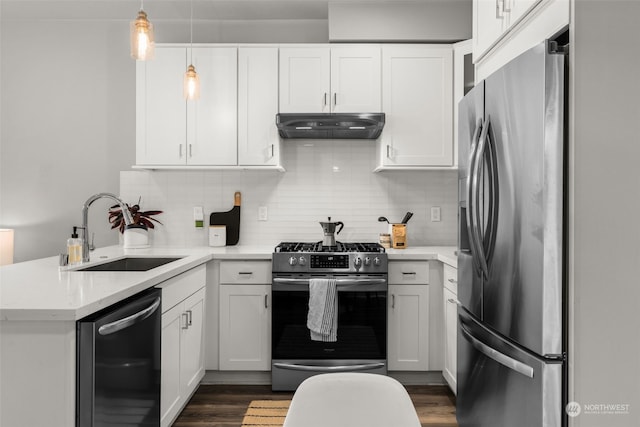
[[(189, 63), (200, 78), (193, 101), (182, 89)], [(136, 63), (136, 165), (282, 170), (277, 112), (277, 47), (158, 46)]]

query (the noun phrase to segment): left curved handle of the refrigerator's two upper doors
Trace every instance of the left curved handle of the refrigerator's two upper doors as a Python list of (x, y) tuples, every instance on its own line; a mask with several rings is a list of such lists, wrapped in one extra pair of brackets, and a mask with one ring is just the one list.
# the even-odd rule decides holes
[(487, 264), (487, 254), (483, 245), (483, 233), (481, 230), (482, 227), (482, 209), (484, 207), (480, 202), (480, 178), (482, 171), (480, 169), (483, 164), (485, 150), (487, 148), (487, 140), (489, 135), (489, 126), (491, 125), (491, 118), (487, 117), (482, 126), (482, 133), (480, 134), (480, 140), (478, 141), (478, 147), (476, 148), (476, 159), (473, 164), (473, 169), (471, 169), (471, 223), (472, 223), (472, 234), (476, 255), (474, 258), (477, 258), (477, 261), (480, 265), (480, 270), (483, 274), (483, 277), (486, 279), (489, 277), (489, 266)]

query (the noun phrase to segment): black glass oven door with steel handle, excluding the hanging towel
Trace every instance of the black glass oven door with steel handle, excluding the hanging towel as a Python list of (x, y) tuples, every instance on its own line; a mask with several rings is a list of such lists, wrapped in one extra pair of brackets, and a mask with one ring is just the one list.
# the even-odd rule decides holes
[[(314, 276), (317, 277), (317, 276)], [(386, 372), (387, 278), (333, 276), (338, 290), (338, 339), (312, 341), (307, 328), (310, 277), (274, 277), (273, 387), (278, 370), (308, 377), (321, 372)], [(294, 387), (295, 388), (295, 387)]]

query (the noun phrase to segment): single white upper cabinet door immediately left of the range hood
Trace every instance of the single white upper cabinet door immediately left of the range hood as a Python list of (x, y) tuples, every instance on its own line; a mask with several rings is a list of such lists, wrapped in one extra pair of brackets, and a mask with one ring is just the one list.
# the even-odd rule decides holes
[(280, 164), (278, 48), (238, 50), (238, 164)]

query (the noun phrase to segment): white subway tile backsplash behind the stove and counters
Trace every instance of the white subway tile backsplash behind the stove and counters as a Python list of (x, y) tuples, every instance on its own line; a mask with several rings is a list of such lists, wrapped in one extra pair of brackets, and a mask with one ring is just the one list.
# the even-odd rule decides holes
[[(233, 207), (242, 193), (242, 245), (275, 246), (281, 241), (320, 241), (319, 221), (331, 217), (345, 226), (341, 241), (377, 241), (387, 232), (385, 216), (407, 226), (408, 245), (457, 244), (457, 171), (384, 171), (373, 173), (375, 142), (369, 140), (285, 140), (286, 172), (257, 170), (123, 171), (120, 196), (129, 204), (140, 198), (142, 210), (164, 211), (151, 233), (155, 246), (208, 244), (211, 212)], [(205, 227), (195, 228), (193, 208), (202, 206)], [(265, 206), (267, 221), (258, 221)], [(431, 207), (441, 221), (431, 221)]]

